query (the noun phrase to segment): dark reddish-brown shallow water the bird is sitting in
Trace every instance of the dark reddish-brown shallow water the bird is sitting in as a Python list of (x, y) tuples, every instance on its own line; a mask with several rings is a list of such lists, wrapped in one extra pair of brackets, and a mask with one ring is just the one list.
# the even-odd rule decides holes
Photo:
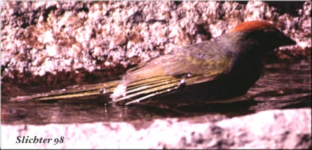
[[(15, 96), (19, 96), (22, 92), (24, 95), (29, 95), (25, 94), (25, 91), (12, 87), (18, 87), (18, 85), (1, 87), (1, 92), (11, 91)], [(41, 87), (43, 91), (45, 91), (44, 88)], [(179, 107), (179, 110), (105, 105), (102, 99), (50, 103), (11, 102), (6, 95), (8, 94), (1, 93), (1, 122), (5, 124), (133, 121), (165, 117), (194, 117), (202, 114), (225, 114), (228, 117), (235, 117), (262, 110), (311, 107), (311, 60), (266, 65), (265, 75), (240, 101), (185, 106)]]

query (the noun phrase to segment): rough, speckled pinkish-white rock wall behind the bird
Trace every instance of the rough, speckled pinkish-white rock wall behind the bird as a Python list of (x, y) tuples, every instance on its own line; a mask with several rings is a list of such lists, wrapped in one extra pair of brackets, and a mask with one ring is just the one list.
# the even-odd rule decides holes
[(283, 49), (297, 50), (290, 57), (311, 49), (311, 1), (4, 1), (1, 75), (127, 68), (246, 20), (273, 22), (296, 40)]

